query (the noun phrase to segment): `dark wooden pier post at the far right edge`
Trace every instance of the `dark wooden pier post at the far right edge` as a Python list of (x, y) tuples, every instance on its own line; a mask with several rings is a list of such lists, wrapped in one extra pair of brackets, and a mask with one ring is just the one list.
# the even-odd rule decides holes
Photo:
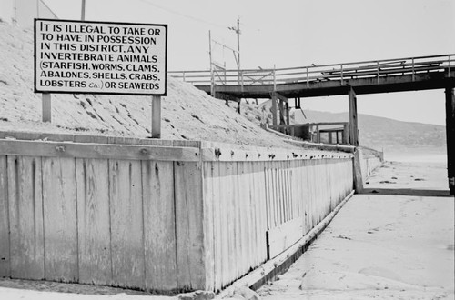
[(450, 195), (455, 195), (455, 95), (446, 88), (447, 177)]

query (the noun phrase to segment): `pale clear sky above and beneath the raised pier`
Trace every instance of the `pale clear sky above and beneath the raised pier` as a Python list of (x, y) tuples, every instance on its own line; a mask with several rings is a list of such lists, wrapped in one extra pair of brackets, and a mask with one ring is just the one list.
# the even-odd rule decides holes
[[(61, 19), (81, 17), (81, 0), (42, 1)], [(242, 68), (455, 54), (453, 0), (86, 0), (87, 21), (167, 24), (171, 71), (209, 68), (208, 31), (237, 48), (228, 27), (238, 18)], [(213, 54), (236, 68), (230, 51), (217, 46)], [(443, 90), (359, 95), (358, 108), (360, 114), (445, 125), (444, 101)], [(306, 98), (302, 105), (343, 112), (348, 95)]]

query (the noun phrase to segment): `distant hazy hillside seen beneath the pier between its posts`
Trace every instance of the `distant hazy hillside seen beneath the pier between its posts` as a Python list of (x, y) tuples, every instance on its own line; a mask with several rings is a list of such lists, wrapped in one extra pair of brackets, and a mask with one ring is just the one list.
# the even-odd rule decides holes
[[(266, 101), (256, 105), (254, 101), (242, 104), (242, 114), (251, 122), (272, 124), (270, 112), (271, 102)], [(305, 116), (300, 109), (292, 109), (292, 124), (318, 122), (348, 122), (348, 113), (333, 114), (329, 112), (305, 110)], [(446, 159), (445, 126), (402, 122), (375, 115), (359, 114), (360, 145), (377, 150), (384, 150), (386, 157), (393, 160), (409, 160), (410, 157), (422, 160)], [(417, 157), (419, 156), (419, 157)], [(424, 157), (425, 156), (425, 157)]]

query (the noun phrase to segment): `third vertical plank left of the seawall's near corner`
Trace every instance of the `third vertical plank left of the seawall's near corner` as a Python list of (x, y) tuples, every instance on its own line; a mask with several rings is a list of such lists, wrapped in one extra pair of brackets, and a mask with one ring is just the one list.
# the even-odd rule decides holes
[(145, 289), (140, 161), (109, 160), (112, 283)]

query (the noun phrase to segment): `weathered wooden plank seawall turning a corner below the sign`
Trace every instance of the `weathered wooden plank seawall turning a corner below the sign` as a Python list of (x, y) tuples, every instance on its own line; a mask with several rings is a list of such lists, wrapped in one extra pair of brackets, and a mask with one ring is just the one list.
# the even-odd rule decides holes
[(352, 157), (0, 133), (0, 276), (219, 290), (318, 225)]

